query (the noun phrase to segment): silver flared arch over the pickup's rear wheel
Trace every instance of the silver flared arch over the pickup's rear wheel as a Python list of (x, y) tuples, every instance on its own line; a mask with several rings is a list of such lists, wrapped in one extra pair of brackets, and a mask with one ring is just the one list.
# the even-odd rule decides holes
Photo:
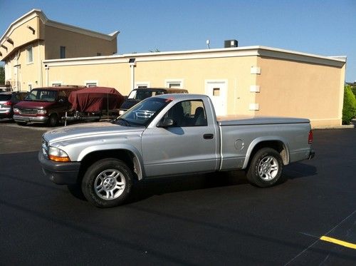
[(286, 140), (278, 137), (256, 138), (256, 140), (253, 140), (253, 142), (248, 147), (244, 166), (242, 167), (243, 169), (248, 167), (249, 163), (251, 162), (251, 158), (253, 158), (253, 155), (255, 155), (258, 150), (261, 150), (261, 148), (273, 148), (273, 150), (276, 150), (281, 155), (283, 164), (288, 165), (289, 148)]

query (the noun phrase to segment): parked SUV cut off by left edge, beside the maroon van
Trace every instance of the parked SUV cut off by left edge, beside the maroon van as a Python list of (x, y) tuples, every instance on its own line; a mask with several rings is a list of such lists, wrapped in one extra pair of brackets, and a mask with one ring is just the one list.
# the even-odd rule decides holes
[(14, 105), (26, 98), (28, 91), (6, 91), (0, 93), (0, 118), (12, 119)]

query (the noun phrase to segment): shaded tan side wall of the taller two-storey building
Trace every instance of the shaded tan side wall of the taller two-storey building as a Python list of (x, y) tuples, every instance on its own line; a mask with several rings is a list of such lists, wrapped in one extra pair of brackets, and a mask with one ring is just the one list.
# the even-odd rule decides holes
[(60, 47), (66, 47), (66, 58), (97, 56), (109, 56), (117, 52), (116, 38), (112, 41), (78, 34), (73, 31), (45, 26), (46, 59), (60, 58)]

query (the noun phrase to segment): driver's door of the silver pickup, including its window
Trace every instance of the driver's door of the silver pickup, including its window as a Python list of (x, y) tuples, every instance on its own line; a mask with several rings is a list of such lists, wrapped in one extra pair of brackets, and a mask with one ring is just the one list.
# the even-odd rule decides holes
[[(164, 121), (170, 125), (162, 126)], [(201, 100), (172, 106), (157, 126), (142, 135), (142, 154), (147, 176), (174, 175), (217, 168), (216, 126), (209, 125)]]

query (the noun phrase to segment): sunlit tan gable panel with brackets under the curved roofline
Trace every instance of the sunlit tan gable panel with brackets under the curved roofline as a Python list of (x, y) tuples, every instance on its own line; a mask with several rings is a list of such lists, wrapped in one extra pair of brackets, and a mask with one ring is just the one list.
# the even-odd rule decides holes
[[(11, 53), (16, 51), (17, 48), (39, 39), (39, 21), (40, 19), (38, 18), (38, 16), (36, 16), (28, 21), (23, 21), (23, 24), (16, 27), (14, 31), (9, 34), (9, 38), (14, 41), (14, 44), (10, 44), (8, 41), (4, 41), (4, 43), (1, 43), (6, 46), (7, 51), (5, 48), (0, 47), (0, 52), (2, 53), (2, 56), (0, 56), (0, 60), (6, 58), (6, 56), (9, 56)], [(33, 34), (33, 31), (28, 29), (27, 26), (31, 26), (33, 29), (35, 29), (35, 34)]]

